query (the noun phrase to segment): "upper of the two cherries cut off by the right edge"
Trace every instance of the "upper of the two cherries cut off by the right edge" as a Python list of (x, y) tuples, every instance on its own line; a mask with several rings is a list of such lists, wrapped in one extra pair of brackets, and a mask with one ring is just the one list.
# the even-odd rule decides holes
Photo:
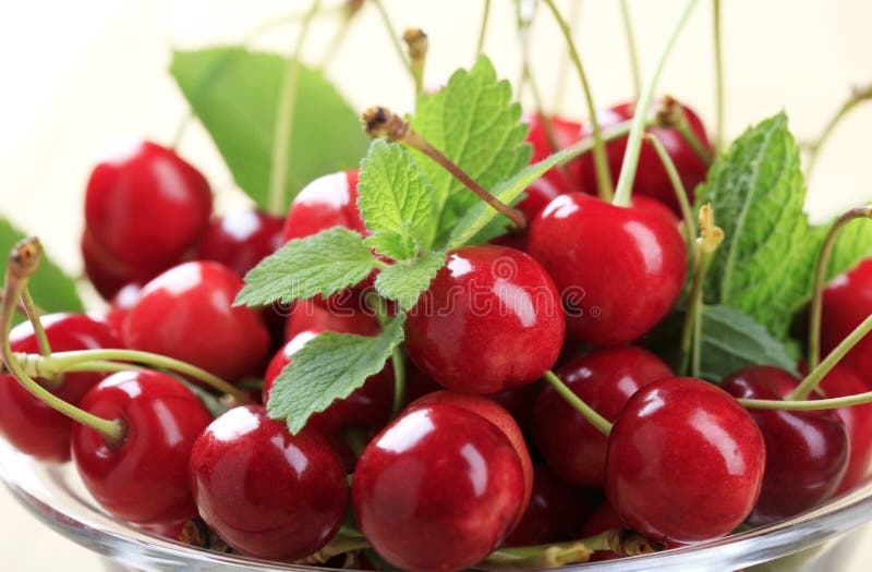
[[(821, 350), (833, 351), (867, 316), (872, 314), (872, 258), (836, 277), (824, 290), (821, 314)], [(872, 334), (867, 334), (843, 358), (872, 388)]]

